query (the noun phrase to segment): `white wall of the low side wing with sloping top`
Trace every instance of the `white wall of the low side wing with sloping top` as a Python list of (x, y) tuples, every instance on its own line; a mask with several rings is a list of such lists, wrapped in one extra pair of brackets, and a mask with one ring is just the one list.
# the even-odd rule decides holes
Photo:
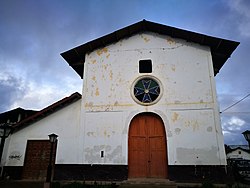
[(56, 163), (76, 164), (81, 158), (78, 150), (82, 144), (82, 136), (80, 136), (82, 130), (79, 126), (80, 107), (81, 100), (78, 100), (12, 134), (3, 164), (22, 166), (27, 140), (48, 140), (48, 135), (51, 133), (58, 135)]

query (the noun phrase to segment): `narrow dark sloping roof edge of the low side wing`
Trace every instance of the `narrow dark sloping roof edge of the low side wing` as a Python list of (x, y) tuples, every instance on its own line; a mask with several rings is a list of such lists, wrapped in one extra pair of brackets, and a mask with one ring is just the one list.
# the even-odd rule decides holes
[(23, 119), (22, 121), (16, 123), (15, 125), (12, 126), (13, 128), (13, 132), (16, 132), (18, 130), (20, 130), (21, 128), (24, 128), (34, 122), (37, 122), (49, 115), (51, 115), (52, 113), (72, 104), (73, 102), (81, 99), (82, 96), (81, 94), (79, 94), (78, 92), (73, 93), (72, 95), (70, 95), (69, 97), (65, 97), (63, 99), (61, 99), (60, 101), (55, 102), (54, 104), (40, 110), (37, 111), (35, 114)]

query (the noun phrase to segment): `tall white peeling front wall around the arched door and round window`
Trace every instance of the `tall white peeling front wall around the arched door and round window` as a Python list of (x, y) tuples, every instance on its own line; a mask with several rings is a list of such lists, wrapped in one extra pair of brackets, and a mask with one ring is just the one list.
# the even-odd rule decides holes
[[(152, 73), (139, 73), (143, 59), (152, 60)], [(131, 96), (142, 75), (161, 81), (154, 105)], [(93, 51), (85, 59), (82, 107), (83, 163), (128, 164), (130, 121), (153, 112), (165, 124), (169, 165), (226, 164), (208, 47), (147, 32)]]

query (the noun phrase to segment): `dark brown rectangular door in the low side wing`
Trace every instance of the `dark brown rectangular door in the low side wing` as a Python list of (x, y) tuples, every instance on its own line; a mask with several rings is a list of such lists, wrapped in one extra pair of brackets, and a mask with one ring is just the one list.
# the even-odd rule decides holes
[[(52, 164), (55, 161), (54, 144)], [(23, 179), (45, 180), (49, 165), (51, 143), (49, 140), (28, 140), (23, 167)]]

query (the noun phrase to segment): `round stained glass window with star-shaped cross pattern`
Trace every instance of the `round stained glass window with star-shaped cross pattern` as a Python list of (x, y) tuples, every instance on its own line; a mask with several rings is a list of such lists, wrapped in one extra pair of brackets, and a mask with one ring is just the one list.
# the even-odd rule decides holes
[(159, 81), (152, 77), (137, 79), (134, 83), (133, 98), (136, 102), (144, 105), (154, 104), (161, 94)]

